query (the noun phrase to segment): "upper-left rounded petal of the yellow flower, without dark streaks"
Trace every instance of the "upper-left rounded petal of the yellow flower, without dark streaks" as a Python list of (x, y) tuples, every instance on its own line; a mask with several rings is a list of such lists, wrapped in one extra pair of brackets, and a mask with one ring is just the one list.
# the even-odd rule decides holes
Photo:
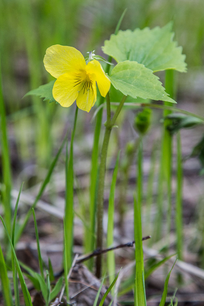
[(53, 45), (46, 50), (45, 69), (55, 78), (67, 72), (80, 72), (86, 67), (81, 52), (73, 47)]

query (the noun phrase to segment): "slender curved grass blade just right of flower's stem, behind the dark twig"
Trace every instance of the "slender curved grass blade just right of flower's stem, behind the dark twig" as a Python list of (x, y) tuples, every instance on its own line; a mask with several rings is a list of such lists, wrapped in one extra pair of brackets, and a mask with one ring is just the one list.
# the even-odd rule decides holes
[[(120, 151), (118, 152), (115, 168), (113, 171), (113, 178), (110, 186), (109, 206), (108, 206), (108, 225), (107, 225), (107, 248), (113, 244), (114, 231), (114, 200), (115, 200), (115, 186), (117, 180), (117, 172), (119, 165)], [(107, 253), (107, 267), (109, 274), (109, 283), (111, 284), (115, 276), (115, 256), (114, 251)], [(113, 295), (113, 292), (111, 292)]]

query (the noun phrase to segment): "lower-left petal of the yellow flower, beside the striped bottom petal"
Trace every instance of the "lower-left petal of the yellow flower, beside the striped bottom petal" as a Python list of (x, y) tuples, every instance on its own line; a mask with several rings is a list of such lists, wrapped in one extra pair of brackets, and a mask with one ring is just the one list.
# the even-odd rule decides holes
[(61, 106), (69, 107), (76, 100), (81, 86), (78, 80), (76, 73), (64, 73), (55, 81), (52, 95)]

